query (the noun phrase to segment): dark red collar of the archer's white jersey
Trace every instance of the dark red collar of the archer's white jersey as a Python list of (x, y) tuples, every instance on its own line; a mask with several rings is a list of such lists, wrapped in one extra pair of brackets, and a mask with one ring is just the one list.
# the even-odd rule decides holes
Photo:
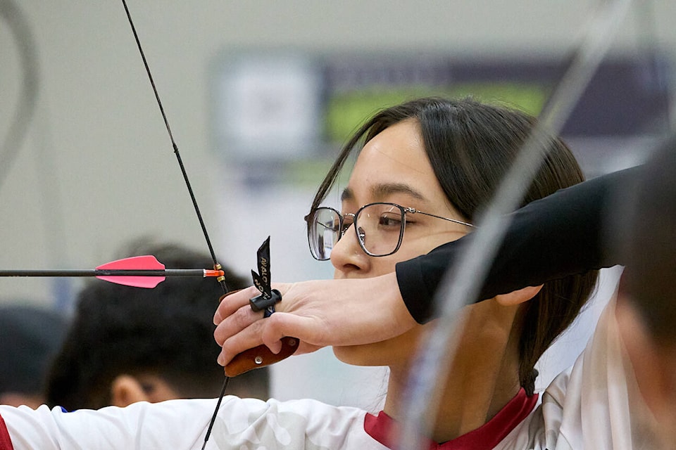
[[(537, 394), (528, 397), (521, 388), (518, 394), (501, 409), (494, 418), (476, 430), (465, 435), (456, 437), (443, 444), (437, 444), (432, 439), (425, 439), (429, 443), (430, 450), (490, 450), (499, 444), (516, 425), (520, 424), (533, 411), (537, 403)], [(366, 414), (364, 418), (364, 430), (370, 437), (391, 449), (396, 447), (396, 435), (399, 432), (399, 424), (380, 411), (378, 416)]]

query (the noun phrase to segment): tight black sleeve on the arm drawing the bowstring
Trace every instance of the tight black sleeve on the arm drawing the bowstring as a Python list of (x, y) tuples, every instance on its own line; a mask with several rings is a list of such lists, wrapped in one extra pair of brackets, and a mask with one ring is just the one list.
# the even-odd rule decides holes
[[(639, 176), (639, 168), (561, 189), (513, 212), (478, 300), (623, 264), (619, 252), (605, 248), (605, 212), (614, 193)], [(473, 236), (470, 233), (427, 255), (396, 264), (399, 291), (418, 323), (433, 319), (434, 290)]]

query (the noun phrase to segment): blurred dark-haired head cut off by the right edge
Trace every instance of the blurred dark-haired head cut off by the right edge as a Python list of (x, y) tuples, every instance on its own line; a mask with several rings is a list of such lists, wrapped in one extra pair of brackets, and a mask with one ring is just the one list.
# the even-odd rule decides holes
[(637, 383), (668, 448), (676, 448), (676, 136), (618, 195), (627, 264), (618, 323)]

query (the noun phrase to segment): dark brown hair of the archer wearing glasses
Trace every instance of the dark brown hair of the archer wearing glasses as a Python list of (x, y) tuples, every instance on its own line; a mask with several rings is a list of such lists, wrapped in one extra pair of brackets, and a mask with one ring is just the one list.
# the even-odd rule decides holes
[[(387, 108), (365, 122), (344, 146), (312, 208), (324, 200), (359, 143), (361, 148), (387, 127), (411, 119), (420, 126), (427, 157), (446, 198), (468, 221), (478, 219), (487, 206), (536, 121), (518, 110), (471, 99), (420, 98)], [(522, 205), (584, 181), (580, 166), (561, 139), (544, 136), (542, 145), (549, 151)], [(533, 300), (522, 305), (517, 323), (521, 327), (519, 378), (528, 394), (534, 390), (535, 363), (580, 313), (596, 277), (597, 272), (592, 271), (549, 281)]]

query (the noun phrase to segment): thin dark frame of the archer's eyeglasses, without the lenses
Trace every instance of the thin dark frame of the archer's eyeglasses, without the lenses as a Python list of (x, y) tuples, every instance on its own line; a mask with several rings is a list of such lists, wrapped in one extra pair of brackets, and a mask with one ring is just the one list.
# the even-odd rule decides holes
[[(356, 224), (357, 224), (357, 217), (358, 217), (359, 214), (361, 214), (362, 210), (364, 210), (364, 209), (367, 208), (367, 207), (373, 206), (373, 205), (389, 205), (389, 206), (398, 208), (399, 211), (401, 212), (401, 226), (400, 226), (400, 228), (399, 228), (399, 240), (397, 241), (396, 247), (394, 248), (394, 250), (392, 250), (392, 252), (385, 253), (385, 254), (383, 254), (383, 255), (375, 255), (374, 253), (369, 252), (369, 251), (365, 248), (365, 245), (364, 245), (364, 233), (360, 233), (360, 232), (359, 232), (359, 229), (357, 228), (357, 225), (356, 225)], [(328, 261), (329, 259), (331, 259), (330, 257), (327, 257), (327, 258), (318, 258), (318, 257), (315, 255), (315, 252), (313, 251), (313, 245), (312, 245), (313, 239), (311, 238), (311, 236), (313, 235), (313, 233), (312, 233), (312, 226), (313, 226), (313, 223), (311, 223), (310, 219), (311, 219), (311, 217), (316, 217), (317, 213), (318, 213), (320, 210), (329, 210), (329, 211), (332, 211), (332, 212), (334, 212), (334, 213), (337, 215), (337, 217), (338, 217), (338, 220), (339, 220), (339, 227), (340, 227), (340, 233), (339, 233), (339, 236), (338, 236), (338, 238), (337, 238), (337, 240), (336, 240), (335, 243), (337, 243), (337, 242), (344, 236), (344, 234), (345, 234), (346, 231), (350, 228), (350, 226), (354, 226), (354, 230), (355, 230), (355, 232), (356, 232), (356, 234), (357, 234), (357, 241), (358, 241), (358, 243), (359, 243), (359, 246), (361, 247), (361, 250), (363, 250), (363, 251), (365, 252), (366, 255), (373, 256), (373, 257), (384, 257), (384, 256), (394, 255), (394, 253), (396, 253), (397, 250), (399, 250), (399, 248), (401, 247), (401, 243), (403, 242), (403, 233), (404, 233), (404, 231), (406, 230), (406, 214), (423, 214), (423, 215), (425, 215), (425, 216), (435, 217), (435, 218), (437, 218), (437, 219), (446, 220), (446, 221), (449, 221), (449, 222), (453, 222), (453, 223), (455, 223), (455, 224), (461, 224), (461, 225), (465, 225), (465, 226), (470, 226), (470, 227), (472, 227), (472, 228), (474, 227), (473, 224), (470, 224), (470, 223), (465, 222), (465, 221), (461, 221), (461, 220), (458, 220), (458, 219), (451, 219), (451, 218), (449, 218), (449, 217), (437, 216), (436, 214), (431, 214), (431, 213), (429, 213), (429, 212), (423, 212), (423, 211), (420, 211), (420, 210), (416, 210), (416, 209), (413, 208), (413, 207), (405, 207), (405, 206), (398, 205), (398, 204), (396, 204), (396, 203), (389, 203), (389, 202), (375, 202), (375, 203), (368, 203), (368, 204), (366, 204), (366, 205), (363, 205), (361, 208), (359, 208), (359, 209), (357, 210), (357, 212), (347, 212), (346, 214), (341, 214), (338, 210), (336, 210), (336, 209), (334, 209), (334, 208), (332, 208), (332, 207), (328, 207), (328, 206), (320, 206), (320, 207), (315, 208), (315, 210), (313, 210), (312, 212), (310, 212), (310, 214), (307, 214), (305, 217), (303, 217), (303, 220), (306, 221), (306, 224), (307, 224), (307, 226), (308, 226), (308, 246), (309, 246), (309, 248), (310, 248), (310, 254), (312, 255), (312, 257), (313, 257), (314, 259), (317, 259), (318, 261)], [(350, 224), (350, 225), (347, 226), (347, 227), (344, 226), (344, 220), (345, 220), (345, 217), (352, 217), (352, 224)], [(334, 243), (334, 244), (335, 244), (335, 243)]]

